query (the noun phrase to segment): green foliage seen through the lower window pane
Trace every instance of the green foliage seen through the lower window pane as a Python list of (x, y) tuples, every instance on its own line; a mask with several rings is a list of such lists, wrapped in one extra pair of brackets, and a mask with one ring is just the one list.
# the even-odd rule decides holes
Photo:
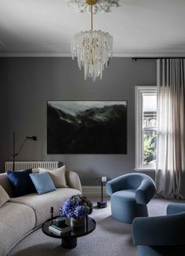
[(156, 159), (156, 149), (155, 149), (155, 141), (156, 141), (156, 133), (153, 131), (152, 133), (144, 134), (144, 143), (143, 143), (143, 153), (144, 153), (144, 163), (150, 163), (153, 159)]

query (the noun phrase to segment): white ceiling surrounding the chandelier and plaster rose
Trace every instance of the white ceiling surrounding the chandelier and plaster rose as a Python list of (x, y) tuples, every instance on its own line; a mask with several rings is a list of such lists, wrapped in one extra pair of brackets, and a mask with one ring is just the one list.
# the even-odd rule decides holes
[[(114, 56), (185, 56), (185, 0), (120, 0), (94, 16), (114, 38)], [(70, 56), (71, 37), (90, 29), (89, 13), (65, 0), (0, 0), (2, 56)]]

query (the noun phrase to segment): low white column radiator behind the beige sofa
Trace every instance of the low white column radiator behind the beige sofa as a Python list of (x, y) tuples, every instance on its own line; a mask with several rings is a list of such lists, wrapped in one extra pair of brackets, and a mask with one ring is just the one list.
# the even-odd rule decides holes
[[(58, 168), (59, 162), (31, 161), (31, 162), (15, 162), (14, 170), (26, 170), (32, 168)], [(13, 162), (5, 162), (5, 171), (13, 170)]]

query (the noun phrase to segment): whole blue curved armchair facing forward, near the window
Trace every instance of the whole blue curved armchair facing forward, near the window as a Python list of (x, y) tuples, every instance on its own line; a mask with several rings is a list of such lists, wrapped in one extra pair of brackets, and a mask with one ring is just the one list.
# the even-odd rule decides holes
[(147, 203), (156, 192), (154, 181), (146, 174), (132, 173), (107, 182), (111, 196), (111, 213), (118, 221), (132, 223), (136, 217), (148, 216)]

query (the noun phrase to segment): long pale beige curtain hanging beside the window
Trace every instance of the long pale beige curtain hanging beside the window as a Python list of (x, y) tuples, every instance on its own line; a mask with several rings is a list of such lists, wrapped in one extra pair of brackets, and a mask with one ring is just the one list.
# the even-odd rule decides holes
[(185, 199), (185, 60), (161, 59), (157, 67), (157, 194)]

